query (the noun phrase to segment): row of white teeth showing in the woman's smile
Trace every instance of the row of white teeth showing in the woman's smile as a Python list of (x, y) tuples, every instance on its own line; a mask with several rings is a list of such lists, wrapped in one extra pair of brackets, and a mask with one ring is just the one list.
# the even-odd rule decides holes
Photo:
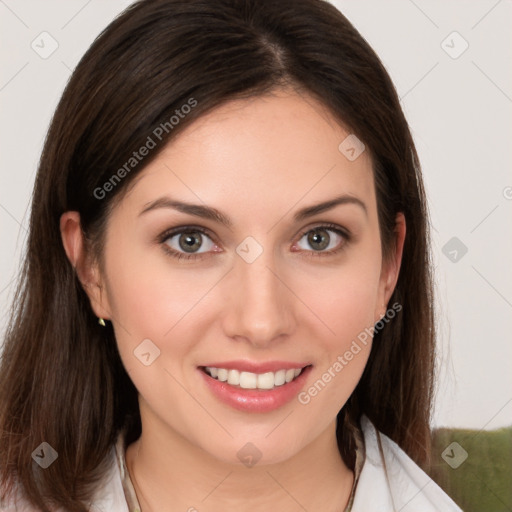
[(298, 377), (302, 368), (259, 374), (227, 370), (226, 368), (214, 368), (212, 366), (207, 366), (205, 370), (213, 378), (221, 382), (227, 382), (231, 386), (240, 386), (242, 389), (273, 389)]

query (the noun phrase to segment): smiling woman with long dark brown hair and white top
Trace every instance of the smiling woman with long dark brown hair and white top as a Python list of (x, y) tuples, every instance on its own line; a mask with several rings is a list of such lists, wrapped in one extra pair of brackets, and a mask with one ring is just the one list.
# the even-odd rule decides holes
[(43, 150), (5, 506), (460, 510), (421, 469), (431, 279), (407, 122), (334, 7), (136, 2)]

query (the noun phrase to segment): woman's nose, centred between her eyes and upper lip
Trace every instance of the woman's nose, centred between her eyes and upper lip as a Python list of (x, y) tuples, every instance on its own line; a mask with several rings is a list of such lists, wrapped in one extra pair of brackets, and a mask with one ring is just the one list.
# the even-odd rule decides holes
[(271, 251), (252, 263), (235, 256), (225, 302), (224, 331), (233, 339), (265, 348), (293, 334), (297, 298), (276, 269)]

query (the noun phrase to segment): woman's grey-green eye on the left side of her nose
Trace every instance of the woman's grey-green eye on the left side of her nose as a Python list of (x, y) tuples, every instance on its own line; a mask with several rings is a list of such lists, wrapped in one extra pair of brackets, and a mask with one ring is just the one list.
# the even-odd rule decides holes
[(161, 235), (160, 242), (170, 256), (178, 259), (201, 258), (202, 254), (211, 252), (212, 249), (214, 251), (216, 247), (206, 230), (196, 226), (166, 231)]

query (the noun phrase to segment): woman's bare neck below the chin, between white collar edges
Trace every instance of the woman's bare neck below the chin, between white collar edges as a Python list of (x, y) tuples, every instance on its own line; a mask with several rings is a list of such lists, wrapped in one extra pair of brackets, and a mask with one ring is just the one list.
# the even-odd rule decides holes
[(282, 512), (341, 512), (348, 503), (354, 477), (339, 454), (335, 422), (291, 458), (252, 467), (219, 461), (157, 425), (143, 421), (126, 451), (142, 512), (225, 512), (248, 503), (253, 512), (267, 512), (269, 503)]

